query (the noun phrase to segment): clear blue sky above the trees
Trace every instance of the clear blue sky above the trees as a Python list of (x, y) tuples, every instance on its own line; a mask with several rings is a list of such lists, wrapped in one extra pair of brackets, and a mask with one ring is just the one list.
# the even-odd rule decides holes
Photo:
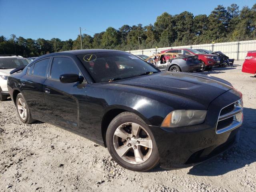
[(91, 36), (108, 27), (154, 24), (163, 12), (209, 15), (222, 4), (250, 8), (255, 0), (0, 0), (0, 35), (24, 38), (76, 39), (79, 27)]

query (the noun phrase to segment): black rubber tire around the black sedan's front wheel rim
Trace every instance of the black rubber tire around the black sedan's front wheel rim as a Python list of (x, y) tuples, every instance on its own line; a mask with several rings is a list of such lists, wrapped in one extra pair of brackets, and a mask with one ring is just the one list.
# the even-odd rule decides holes
[[(140, 164), (132, 164), (129, 162), (126, 162), (123, 158), (121, 158), (114, 147), (114, 133), (118, 129), (119, 126), (121, 126), (124, 123), (135, 123), (139, 126), (142, 126), (150, 135), (150, 138), (152, 140), (152, 151), (149, 156), (149, 158)], [(128, 140), (127, 140), (128, 142)], [(116, 116), (109, 124), (107, 132), (106, 132), (106, 145), (108, 147), (108, 151), (112, 158), (120, 164), (120, 166), (132, 170), (132, 171), (138, 171), (138, 172), (144, 172), (148, 171), (152, 168), (154, 168), (159, 163), (159, 154), (158, 149), (156, 146), (156, 141), (154, 139), (154, 136), (151, 132), (151, 130), (148, 128), (147, 124), (136, 114), (131, 112), (123, 112)], [(138, 145), (139, 146), (139, 145)], [(133, 150), (131, 148), (130, 150)]]

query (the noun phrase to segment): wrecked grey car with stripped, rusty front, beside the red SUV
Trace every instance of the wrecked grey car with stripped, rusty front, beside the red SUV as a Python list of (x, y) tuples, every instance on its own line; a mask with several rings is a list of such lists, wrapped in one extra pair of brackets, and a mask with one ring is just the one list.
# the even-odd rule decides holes
[(198, 56), (175, 53), (160, 53), (146, 59), (161, 71), (193, 72), (199, 70)]

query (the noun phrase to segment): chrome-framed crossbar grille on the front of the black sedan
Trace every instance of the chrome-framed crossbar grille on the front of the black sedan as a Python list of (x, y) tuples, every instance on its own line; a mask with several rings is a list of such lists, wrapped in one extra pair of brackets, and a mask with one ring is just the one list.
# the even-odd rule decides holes
[(221, 134), (241, 126), (243, 121), (242, 99), (238, 100), (220, 110), (216, 133)]

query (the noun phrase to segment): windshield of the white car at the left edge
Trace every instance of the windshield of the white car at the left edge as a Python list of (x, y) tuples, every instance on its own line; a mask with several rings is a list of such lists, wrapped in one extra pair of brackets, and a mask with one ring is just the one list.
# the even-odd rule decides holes
[(0, 69), (14, 69), (28, 64), (29, 61), (24, 58), (0, 58)]

